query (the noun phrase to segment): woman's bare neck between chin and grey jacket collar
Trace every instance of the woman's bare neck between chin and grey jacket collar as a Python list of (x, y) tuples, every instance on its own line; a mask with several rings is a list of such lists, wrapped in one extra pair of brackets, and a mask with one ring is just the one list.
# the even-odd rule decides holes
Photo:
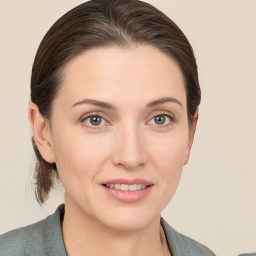
[(74, 202), (65, 200), (62, 234), (68, 256), (85, 252), (91, 256), (170, 255), (164, 234), (160, 237), (160, 216), (143, 228), (116, 230), (87, 215)]

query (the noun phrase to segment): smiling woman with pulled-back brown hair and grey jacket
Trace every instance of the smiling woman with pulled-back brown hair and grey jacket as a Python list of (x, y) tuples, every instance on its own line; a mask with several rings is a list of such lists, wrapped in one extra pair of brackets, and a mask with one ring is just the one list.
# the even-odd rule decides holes
[(138, 0), (91, 0), (59, 18), (31, 75), (36, 197), (65, 204), (0, 236), (1, 255), (214, 255), (161, 210), (187, 163), (200, 103), (182, 31)]

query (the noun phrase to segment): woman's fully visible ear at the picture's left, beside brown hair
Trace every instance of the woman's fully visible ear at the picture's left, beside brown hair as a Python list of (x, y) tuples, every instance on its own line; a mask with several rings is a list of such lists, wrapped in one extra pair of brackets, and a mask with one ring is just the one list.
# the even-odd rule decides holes
[(28, 118), (35, 144), (41, 156), (47, 162), (55, 162), (49, 123), (41, 116), (37, 105), (33, 102), (28, 107)]

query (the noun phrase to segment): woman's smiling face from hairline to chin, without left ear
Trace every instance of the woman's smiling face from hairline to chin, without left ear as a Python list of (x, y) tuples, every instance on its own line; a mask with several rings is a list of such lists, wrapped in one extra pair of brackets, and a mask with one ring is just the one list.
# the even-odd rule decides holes
[(170, 57), (151, 46), (85, 51), (66, 66), (53, 102), (52, 153), (66, 203), (108, 227), (145, 226), (177, 188), (191, 133)]

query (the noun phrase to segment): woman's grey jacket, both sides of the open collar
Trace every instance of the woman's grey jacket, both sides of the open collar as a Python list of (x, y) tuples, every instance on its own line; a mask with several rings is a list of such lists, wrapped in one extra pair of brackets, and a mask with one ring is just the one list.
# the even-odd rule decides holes
[[(66, 256), (61, 233), (64, 204), (34, 224), (0, 235), (0, 256)], [(175, 231), (161, 218), (172, 256), (213, 256), (210, 249)]]

